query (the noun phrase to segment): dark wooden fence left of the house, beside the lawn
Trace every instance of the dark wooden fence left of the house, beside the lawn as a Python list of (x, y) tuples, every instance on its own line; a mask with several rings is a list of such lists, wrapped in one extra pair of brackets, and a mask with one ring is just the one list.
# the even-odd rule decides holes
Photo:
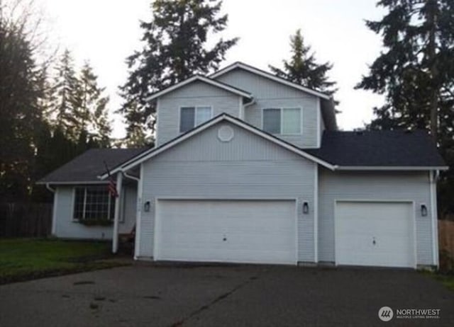
[(46, 237), (52, 232), (52, 203), (0, 203), (0, 237)]

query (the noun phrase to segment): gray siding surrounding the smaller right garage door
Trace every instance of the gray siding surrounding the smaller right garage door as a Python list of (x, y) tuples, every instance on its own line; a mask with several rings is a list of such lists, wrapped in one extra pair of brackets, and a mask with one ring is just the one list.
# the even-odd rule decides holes
[[(334, 262), (336, 200), (403, 200), (416, 204), (417, 264), (432, 265), (431, 198), (427, 172), (336, 172), (319, 169), (319, 260)], [(428, 216), (421, 217), (425, 203)]]

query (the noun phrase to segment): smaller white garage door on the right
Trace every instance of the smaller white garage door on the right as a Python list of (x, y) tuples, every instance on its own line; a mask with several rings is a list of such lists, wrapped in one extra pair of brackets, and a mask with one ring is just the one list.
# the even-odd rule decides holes
[(336, 263), (415, 266), (413, 206), (403, 202), (337, 202)]

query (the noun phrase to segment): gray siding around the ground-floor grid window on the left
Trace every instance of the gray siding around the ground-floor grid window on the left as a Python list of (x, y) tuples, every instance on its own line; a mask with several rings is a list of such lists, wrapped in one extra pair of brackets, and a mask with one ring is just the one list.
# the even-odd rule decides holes
[[(137, 190), (126, 186), (125, 204), (121, 208), (124, 222), (119, 224), (120, 234), (131, 232), (135, 224)], [(74, 187), (58, 186), (55, 190), (55, 236), (62, 239), (112, 239), (112, 226), (84, 226), (72, 219), (74, 211)]]

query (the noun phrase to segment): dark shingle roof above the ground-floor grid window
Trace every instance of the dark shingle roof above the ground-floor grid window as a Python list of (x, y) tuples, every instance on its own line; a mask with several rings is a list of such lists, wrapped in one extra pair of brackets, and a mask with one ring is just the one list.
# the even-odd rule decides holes
[(67, 183), (99, 181), (97, 176), (106, 172), (104, 161), (109, 169), (118, 166), (140, 154), (148, 148), (141, 149), (90, 149), (67, 164), (57, 168), (38, 183)]

